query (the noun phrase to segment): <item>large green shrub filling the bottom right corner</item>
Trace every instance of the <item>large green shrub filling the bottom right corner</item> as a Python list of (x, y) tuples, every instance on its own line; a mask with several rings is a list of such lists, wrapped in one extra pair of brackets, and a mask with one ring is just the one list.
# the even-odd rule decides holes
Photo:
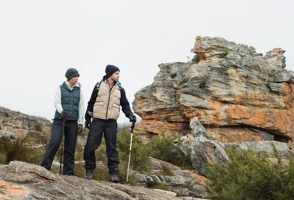
[[(207, 191), (213, 200), (293, 200), (294, 158), (289, 163), (272, 143), (272, 158), (253, 152), (227, 149), (228, 166), (214, 163), (208, 167)], [(273, 161), (276, 160), (276, 161)]]

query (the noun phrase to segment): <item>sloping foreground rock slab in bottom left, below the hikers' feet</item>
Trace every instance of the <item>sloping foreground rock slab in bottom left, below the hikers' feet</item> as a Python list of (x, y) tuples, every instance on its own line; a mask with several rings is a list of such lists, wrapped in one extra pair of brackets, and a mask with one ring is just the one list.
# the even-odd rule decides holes
[(43, 167), (20, 161), (0, 165), (0, 199), (182, 200), (166, 191), (52, 174)]

